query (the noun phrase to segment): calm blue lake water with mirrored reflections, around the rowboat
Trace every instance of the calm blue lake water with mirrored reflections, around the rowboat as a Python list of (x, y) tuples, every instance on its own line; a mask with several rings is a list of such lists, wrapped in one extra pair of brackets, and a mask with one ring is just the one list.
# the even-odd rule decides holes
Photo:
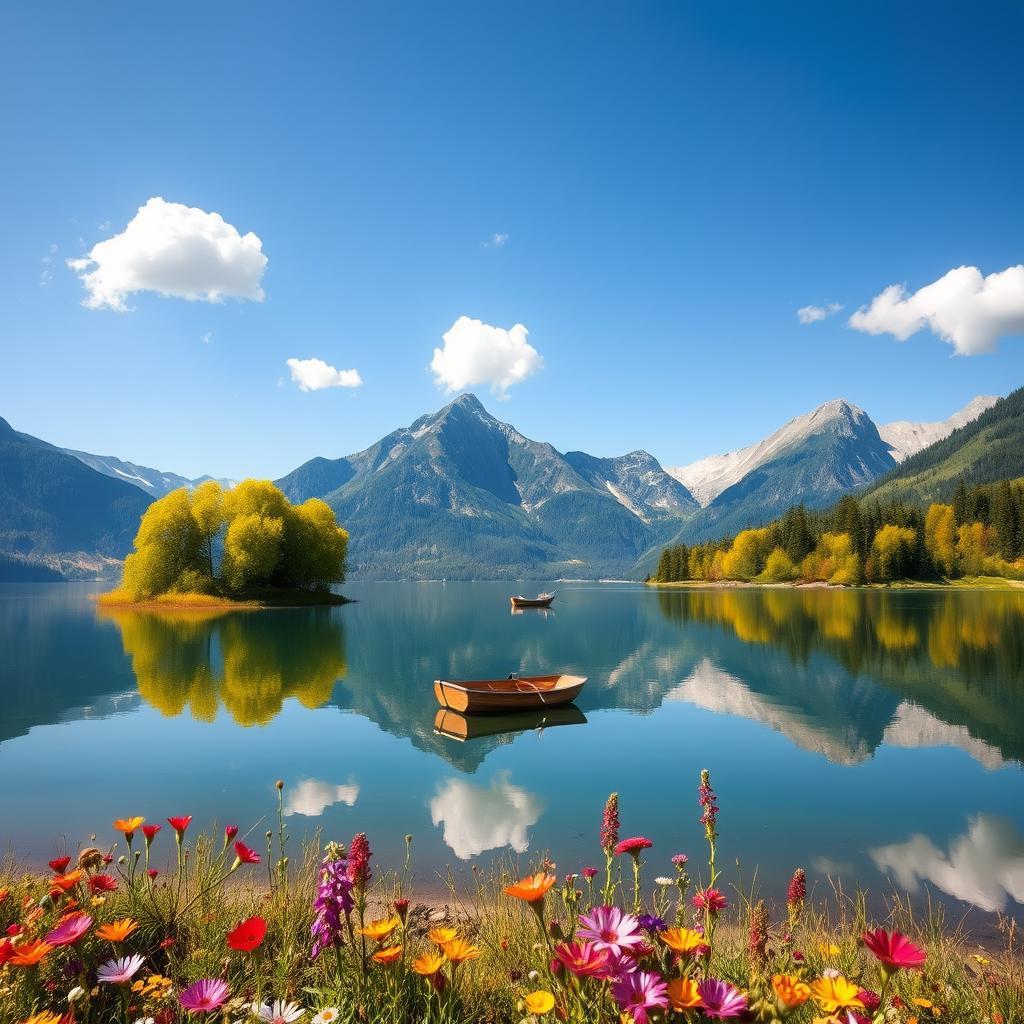
[[(397, 863), (412, 833), (427, 887), (499, 853), (599, 863), (617, 790), (657, 873), (703, 852), (707, 766), (748, 878), (1024, 901), (1024, 593), (562, 585), (512, 615), (508, 584), (350, 584), (341, 608), (181, 617), (97, 613), (95, 589), (0, 586), (0, 837), (25, 859), (135, 813), (259, 836), (280, 777), (293, 834), (362, 829)], [(434, 731), (436, 676), (556, 670), (590, 677), (578, 713)]]

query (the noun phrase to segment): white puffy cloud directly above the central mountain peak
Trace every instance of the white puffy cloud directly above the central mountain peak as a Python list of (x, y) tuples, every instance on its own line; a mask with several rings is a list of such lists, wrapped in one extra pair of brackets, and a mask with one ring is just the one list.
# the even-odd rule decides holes
[(449, 391), (489, 384), (497, 397), (507, 398), (513, 384), (544, 366), (540, 352), (526, 340), (528, 335), (522, 324), (506, 331), (460, 316), (441, 336), (444, 346), (434, 349), (430, 369), (436, 383)]

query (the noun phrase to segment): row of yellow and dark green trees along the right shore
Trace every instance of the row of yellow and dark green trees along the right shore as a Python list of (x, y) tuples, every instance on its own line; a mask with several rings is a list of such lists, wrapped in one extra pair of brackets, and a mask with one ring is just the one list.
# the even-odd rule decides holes
[(734, 538), (666, 548), (653, 579), (822, 582), (855, 586), (964, 575), (1024, 579), (1024, 485), (967, 486), (951, 504), (859, 502), (790, 509), (767, 526)]

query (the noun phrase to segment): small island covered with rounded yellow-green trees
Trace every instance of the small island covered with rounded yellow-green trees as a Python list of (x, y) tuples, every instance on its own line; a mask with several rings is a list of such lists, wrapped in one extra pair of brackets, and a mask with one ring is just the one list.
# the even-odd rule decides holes
[(345, 604), (348, 532), (317, 498), (293, 505), (269, 480), (179, 487), (142, 515), (109, 608), (218, 610)]

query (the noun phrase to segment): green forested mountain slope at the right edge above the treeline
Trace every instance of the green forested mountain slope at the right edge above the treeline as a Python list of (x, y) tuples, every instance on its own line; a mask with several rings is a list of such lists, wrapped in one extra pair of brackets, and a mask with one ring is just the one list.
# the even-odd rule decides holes
[(1024, 476), (1024, 388), (977, 419), (909, 456), (865, 496), (907, 502), (948, 501), (957, 483), (992, 483)]

